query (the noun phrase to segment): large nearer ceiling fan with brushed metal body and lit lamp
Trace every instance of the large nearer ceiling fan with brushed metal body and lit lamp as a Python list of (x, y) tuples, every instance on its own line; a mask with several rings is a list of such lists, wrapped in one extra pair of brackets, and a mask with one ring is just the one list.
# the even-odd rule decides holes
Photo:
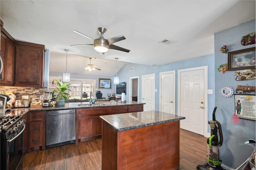
[(80, 46), (80, 45), (94, 45), (94, 49), (100, 53), (105, 53), (106, 51), (108, 51), (108, 49), (114, 49), (114, 50), (119, 50), (119, 51), (124, 51), (126, 53), (129, 53), (130, 50), (128, 49), (124, 49), (122, 47), (118, 47), (116, 45), (113, 45), (113, 43), (116, 43), (118, 41), (124, 40), (126, 39), (124, 37), (124, 35), (119, 35), (117, 37), (112, 37), (112, 38), (108, 38), (105, 39), (103, 37), (103, 34), (106, 33), (107, 29), (104, 27), (98, 27), (98, 31), (101, 34), (99, 38), (97, 39), (92, 39), (91, 37), (88, 37), (87, 35), (84, 35), (83, 33), (80, 33), (76, 30), (73, 30), (75, 33), (78, 33), (88, 39), (91, 39), (94, 41), (93, 44), (78, 44), (78, 45), (71, 45), (71, 46)]

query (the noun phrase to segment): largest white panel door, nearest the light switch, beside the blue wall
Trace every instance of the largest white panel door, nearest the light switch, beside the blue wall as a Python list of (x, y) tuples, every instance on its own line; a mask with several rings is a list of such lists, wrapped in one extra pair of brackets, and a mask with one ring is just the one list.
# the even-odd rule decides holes
[(186, 119), (180, 121), (180, 128), (204, 135), (204, 121), (205, 116), (207, 117), (204, 109), (205, 88), (207, 87), (205, 87), (205, 69), (191, 68), (178, 71), (180, 71), (180, 85), (178, 86), (180, 88), (179, 112), (181, 116), (186, 117)]

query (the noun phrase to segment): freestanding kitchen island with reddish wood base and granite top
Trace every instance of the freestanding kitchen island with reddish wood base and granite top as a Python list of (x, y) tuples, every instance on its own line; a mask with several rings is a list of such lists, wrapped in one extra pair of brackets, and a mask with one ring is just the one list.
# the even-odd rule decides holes
[(160, 111), (100, 116), (102, 170), (175, 170), (180, 165), (180, 120)]

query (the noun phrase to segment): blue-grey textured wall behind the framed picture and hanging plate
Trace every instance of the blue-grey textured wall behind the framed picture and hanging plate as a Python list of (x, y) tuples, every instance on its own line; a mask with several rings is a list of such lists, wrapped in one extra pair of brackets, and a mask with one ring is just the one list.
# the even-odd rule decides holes
[(235, 27), (225, 29), (214, 35), (215, 46), (215, 104), (218, 106), (216, 119), (222, 125), (224, 137), (223, 145), (220, 147), (220, 156), (225, 165), (237, 168), (253, 152), (253, 148), (248, 145), (240, 145), (248, 139), (255, 140), (255, 121), (240, 119), (240, 124), (232, 123), (232, 115), (235, 111), (234, 95), (230, 98), (220, 96), (218, 90), (222, 86), (231, 86), (236, 90), (238, 85), (255, 86), (255, 80), (236, 81), (234, 79), (235, 71), (226, 71), (224, 74), (217, 71), (221, 64), (228, 63), (228, 54), (220, 52), (220, 47), (227, 45), (228, 51), (236, 51), (255, 47), (253, 45), (242, 46), (241, 37), (248, 33), (255, 33), (255, 20), (251, 20)]

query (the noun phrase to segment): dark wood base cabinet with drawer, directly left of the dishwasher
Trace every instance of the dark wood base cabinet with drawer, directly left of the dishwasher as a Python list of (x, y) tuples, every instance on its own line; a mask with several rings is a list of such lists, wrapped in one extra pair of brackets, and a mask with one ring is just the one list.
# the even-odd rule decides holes
[(28, 145), (30, 151), (46, 148), (46, 111), (29, 112)]

